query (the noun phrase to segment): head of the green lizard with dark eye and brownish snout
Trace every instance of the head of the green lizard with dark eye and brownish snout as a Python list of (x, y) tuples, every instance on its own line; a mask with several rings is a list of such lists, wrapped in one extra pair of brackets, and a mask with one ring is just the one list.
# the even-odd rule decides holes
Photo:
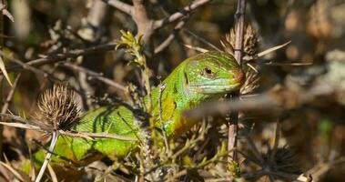
[(207, 52), (190, 57), (184, 70), (185, 86), (201, 95), (222, 95), (236, 91), (245, 76), (233, 56)]

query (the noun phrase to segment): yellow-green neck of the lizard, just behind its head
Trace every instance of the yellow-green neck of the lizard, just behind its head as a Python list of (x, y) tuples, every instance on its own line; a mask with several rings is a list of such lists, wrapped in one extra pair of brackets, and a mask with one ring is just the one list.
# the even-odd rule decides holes
[[(209, 98), (209, 96), (200, 95), (189, 89), (188, 77), (184, 73), (183, 66), (178, 66), (152, 91), (152, 109), (149, 112), (152, 116), (151, 119), (159, 127), (162, 122), (167, 136), (170, 138), (181, 135), (198, 123), (197, 120), (185, 119), (182, 112), (198, 106), (199, 103)], [(164, 89), (159, 89), (160, 86), (164, 86)], [(161, 103), (160, 107), (159, 102)], [(160, 112), (161, 119), (159, 117)]]

